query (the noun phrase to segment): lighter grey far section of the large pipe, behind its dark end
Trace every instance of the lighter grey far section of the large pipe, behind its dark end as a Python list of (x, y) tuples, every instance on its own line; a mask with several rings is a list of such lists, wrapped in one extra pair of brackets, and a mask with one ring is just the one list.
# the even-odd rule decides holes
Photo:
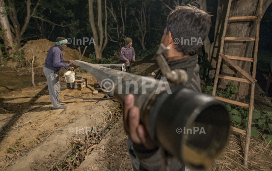
[[(123, 99), (127, 94), (133, 94), (135, 98), (135, 106), (141, 109), (144, 102), (148, 98), (146, 95), (149, 95), (154, 90), (156, 91), (160, 82), (159, 80), (156, 80), (154, 87), (144, 90), (143, 83), (145, 83), (145, 85), (151, 84), (151, 78), (143, 78), (143, 76), (140, 75), (134, 75), (115, 69), (109, 69), (100, 65), (91, 64), (79, 60), (74, 61), (74, 64), (87, 70), (103, 85), (104, 88), (110, 87), (108, 88), (108, 90), (121, 103), (123, 102)], [(128, 80), (131, 84), (129, 84)], [(111, 83), (111, 85), (109, 83)], [(143, 90), (145, 92), (143, 92)]]

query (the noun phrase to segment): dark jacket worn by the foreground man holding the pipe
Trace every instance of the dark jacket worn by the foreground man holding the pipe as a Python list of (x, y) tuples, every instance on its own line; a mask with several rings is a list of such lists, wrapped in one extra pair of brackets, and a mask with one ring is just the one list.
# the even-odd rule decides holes
[[(190, 56), (187, 58), (172, 60), (167, 62), (170, 69), (183, 69), (188, 74), (188, 80), (185, 85), (195, 90), (198, 93), (201, 93), (200, 86), (200, 77), (199, 77), (199, 65), (197, 64), (198, 57)], [(155, 75), (156, 79), (162, 77), (162, 73), (159, 70)], [(162, 165), (162, 156), (160, 153), (160, 148), (156, 147), (155, 149), (148, 150), (143, 144), (135, 144), (132, 142), (130, 137), (127, 138), (127, 148), (131, 158), (132, 166), (134, 170), (154, 170), (160, 171), (163, 170)], [(168, 166), (171, 171), (183, 171), (185, 170), (185, 165), (181, 163), (177, 158), (169, 158)]]

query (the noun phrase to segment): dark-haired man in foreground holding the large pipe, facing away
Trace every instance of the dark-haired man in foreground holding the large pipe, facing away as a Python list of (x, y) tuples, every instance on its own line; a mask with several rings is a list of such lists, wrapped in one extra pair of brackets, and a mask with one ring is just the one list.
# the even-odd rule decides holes
[[(161, 40), (165, 47), (170, 47), (167, 54), (164, 54), (170, 69), (185, 70), (188, 74), (185, 85), (199, 93), (201, 87), (197, 53), (202, 44), (192, 38), (204, 41), (210, 26), (211, 16), (206, 12), (193, 6), (176, 7), (167, 18), (167, 27)], [(184, 45), (180, 41), (185, 39), (193, 41)], [(160, 79), (161, 76), (159, 71), (155, 78)], [(133, 169), (158, 171), (168, 167), (169, 170), (185, 170), (185, 165), (175, 157), (167, 159), (168, 166), (164, 164), (161, 147), (154, 145), (146, 128), (140, 123), (140, 111), (134, 107), (133, 95), (126, 96), (123, 106), (124, 130), (128, 134), (127, 148)]]

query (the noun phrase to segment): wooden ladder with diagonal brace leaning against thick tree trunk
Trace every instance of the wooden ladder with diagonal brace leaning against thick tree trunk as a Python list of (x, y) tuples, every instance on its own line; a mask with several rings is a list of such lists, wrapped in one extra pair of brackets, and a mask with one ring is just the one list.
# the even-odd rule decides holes
[[(227, 10), (227, 15), (225, 19), (225, 24), (224, 24), (224, 31), (222, 35), (222, 40), (221, 40), (221, 47), (220, 47), (220, 53), (219, 53), (219, 59), (217, 63), (217, 69), (216, 69), (216, 74), (215, 74), (215, 82), (214, 82), (214, 89), (213, 89), (213, 96), (223, 102), (238, 105), (244, 108), (249, 108), (249, 113), (248, 113), (248, 125), (247, 125), (247, 131), (231, 127), (231, 130), (235, 132), (239, 132), (241, 134), (246, 135), (246, 144), (245, 144), (245, 151), (244, 151), (244, 165), (247, 167), (247, 159), (248, 159), (248, 152), (249, 152), (249, 143), (250, 143), (250, 136), (251, 136), (251, 123), (252, 123), (252, 112), (254, 109), (254, 90), (255, 90), (255, 83), (257, 80), (255, 79), (256, 76), (256, 67), (257, 67), (257, 53), (258, 53), (258, 44), (259, 44), (259, 30), (260, 30), (260, 21), (261, 21), (261, 13), (262, 13), (262, 4), (263, 0), (259, 1), (259, 11), (257, 16), (245, 16), (245, 17), (231, 17), (230, 16), (230, 9), (231, 9), (231, 3), (232, 0), (229, 0), (228, 4), (228, 10)], [(257, 28), (256, 28), (256, 36), (255, 37), (226, 37), (226, 31), (227, 31), (227, 25), (229, 21), (244, 21), (244, 20), (257, 20)], [(238, 56), (229, 56), (229, 55), (224, 55), (223, 54), (223, 48), (224, 48), (224, 43), (225, 41), (255, 41), (255, 50), (254, 50), (254, 58), (247, 58), (247, 57), (238, 57)], [(225, 75), (220, 75), (220, 67), (221, 67), (221, 62), (222, 58), (232, 65), (237, 71), (241, 72), (241, 74), (246, 77), (247, 79), (244, 78), (236, 78), (232, 76), (225, 76)], [(252, 76), (244, 71), (242, 68), (240, 68), (237, 64), (235, 64), (231, 59), (233, 60), (240, 60), (240, 61), (248, 61), (248, 62), (253, 62), (253, 71), (252, 71)], [(217, 90), (217, 84), (218, 84), (218, 79), (229, 79), (229, 80), (235, 80), (235, 81), (240, 81), (240, 82), (246, 82), (246, 83), (251, 83), (251, 96), (250, 96), (250, 104), (245, 104), (225, 98), (221, 98), (216, 95), (216, 90)]]

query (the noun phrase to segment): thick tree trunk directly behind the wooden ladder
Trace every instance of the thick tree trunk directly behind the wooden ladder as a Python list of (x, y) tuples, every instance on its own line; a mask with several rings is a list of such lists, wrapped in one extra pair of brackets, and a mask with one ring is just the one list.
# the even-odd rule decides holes
[[(241, 1), (233, 1), (230, 17), (238, 17), (238, 16), (255, 16), (258, 14), (258, 2), (241, 0)], [(264, 1), (262, 15), (265, 13), (269, 4), (271, 4), (272, 0)], [(220, 50), (220, 42), (222, 38), (222, 33), (224, 29), (224, 22), (226, 18), (228, 7), (228, 1), (219, 0), (218, 4), (218, 13), (217, 13), (217, 23), (215, 27), (215, 42), (213, 43), (213, 48), (210, 51), (210, 63), (213, 69), (216, 69), (216, 64), (218, 60), (218, 54)], [(255, 37), (256, 35), (256, 23), (257, 20), (252, 21), (244, 21), (244, 22), (229, 22), (228, 28), (226, 32), (226, 37)], [(241, 56), (252, 58), (254, 42), (238, 42), (238, 41), (225, 41), (224, 51), (223, 53), (226, 55), (232, 56)], [(245, 61), (235, 61), (234, 62), (240, 66), (246, 72), (250, 72), (250, 62)], [(239, 72), (237, 72), (234, 68), (226, 64), (223, 60), (222, 73), (223, 75), (234, 76), (234, 77), (243, 77)], [(215, 70), (212, 72), (214, 76)], [(226, 79), (221, 80), (221, 87), (225, 88), (226, 84), (233, 83), (238, 86), (238, 95), (236, 97), (237, 101), (244, 102), (246, 95), (248, 94), (249, 84), (230, 81)]]

